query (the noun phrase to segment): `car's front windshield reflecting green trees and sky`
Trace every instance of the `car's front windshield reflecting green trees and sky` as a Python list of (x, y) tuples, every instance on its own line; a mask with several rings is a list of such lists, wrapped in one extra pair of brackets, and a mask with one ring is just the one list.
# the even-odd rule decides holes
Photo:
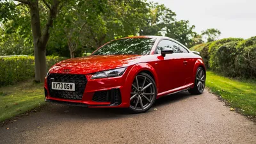
[(124, 38), (113, 40), (92, 55), (150, 54), (156, 38)]

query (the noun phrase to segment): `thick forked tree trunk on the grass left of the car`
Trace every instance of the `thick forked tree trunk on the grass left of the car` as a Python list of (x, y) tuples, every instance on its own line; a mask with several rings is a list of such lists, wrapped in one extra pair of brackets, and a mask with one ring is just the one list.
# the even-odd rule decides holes
[[(45, 49), (47, 42), (50, 37), (49, 30), (52, 28), (52, 24), (54, 19), (57, 16), (58, 11), (60, 11), (61, 7), (60, 0), (51, 0), (51, 4), (49, 4), (50, 0), (42, 0), (42, 3), (47, 7), (48, 17), (47, 22), (44, 26), (44, 29), (41, 28), (40, 22), (40, 7), (38, 0), (15, 0), (23, 4), (24, 6), (28, 6), (30, 13), (30, 22), (31, 29), (33, 35), (33, 47), (34, 47), (34, 56), (35, 56), (35, 81), (43, 82), (44, 77), (47, 73), (46, 71), (46, 58), (45, 58)], [(18, 5), (20, 5), (18, 4)]]

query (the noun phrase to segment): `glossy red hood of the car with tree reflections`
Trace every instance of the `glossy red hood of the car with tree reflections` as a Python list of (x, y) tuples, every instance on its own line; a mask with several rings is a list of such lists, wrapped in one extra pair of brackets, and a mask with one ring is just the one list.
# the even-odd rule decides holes
[(54, 65), (51, 73), (92, 74), (102, 70), (133, 65), (141, 55), (110, 55), (71, 58)]

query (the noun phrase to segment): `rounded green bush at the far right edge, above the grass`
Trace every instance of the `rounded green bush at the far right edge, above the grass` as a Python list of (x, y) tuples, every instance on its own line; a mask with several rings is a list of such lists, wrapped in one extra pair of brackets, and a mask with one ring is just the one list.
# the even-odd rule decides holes
[(239, 74), (245, 78), (256, 78), (256, 36), (244, 40), (237, 46), (239, 54), (236, 65)]

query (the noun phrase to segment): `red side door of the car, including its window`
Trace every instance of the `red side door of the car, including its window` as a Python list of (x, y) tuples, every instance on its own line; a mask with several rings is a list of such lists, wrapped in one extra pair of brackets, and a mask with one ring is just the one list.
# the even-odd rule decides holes
[(159, 93), (173, 90), (183, 86), (186, 80), (184, 77), (184, 59), (178, 52), (161, 56), (161, 49), (168, 47), (177, 50), (177, 44), (171, 40), (161, 40), (156, 47), (157, 67), (156, 72), (159, 79)]

